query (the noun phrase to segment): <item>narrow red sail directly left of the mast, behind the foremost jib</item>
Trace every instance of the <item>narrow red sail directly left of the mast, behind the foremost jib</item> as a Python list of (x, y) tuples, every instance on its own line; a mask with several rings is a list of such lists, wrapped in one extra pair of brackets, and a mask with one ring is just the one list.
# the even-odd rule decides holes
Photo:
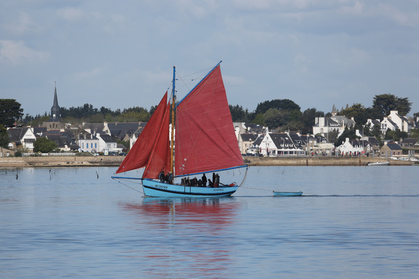
[(144, 174), (142, 174), (143, 179), (158, 179), (162, 170), (165, 174), (170, 170), (169, 123), (170, 102), (163, 114), (159, 135), (157, 135), (156, 142), (153, 142), (152, 153), (149, 156)]

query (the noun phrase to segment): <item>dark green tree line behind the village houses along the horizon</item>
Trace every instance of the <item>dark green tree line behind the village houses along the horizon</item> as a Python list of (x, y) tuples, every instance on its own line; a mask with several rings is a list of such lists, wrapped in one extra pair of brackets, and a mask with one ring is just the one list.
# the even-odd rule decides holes
[[(376, 95), (373, 98), (372, 107), (365, 107), (360, 103), (354, 103), (349, 107), (342, 107), (337, 110), (335, 105), (331, 112), (322, 112), (316, 108), (309, 108), (301, 111), (301, 107), (288, 99), (266, 100), (258, 103), (256, 110), (249, 112), (244, 109), (242, 105), (230, 105), (230, 112), (233, 122), (256, 123), (267, 126), (270, 130), (282, 132), (285, 130), (300, 131), (302, 134), (309, 134), (315, 124), (316, 117), (330, 117), (332, 112), (337, 115), (346, 116), (349, 119), (353, 117), (355, 121), (355, 129), (345, 131), (345, 137), (354, 138), (352, 134), (355, 130), (362, 130), (362, 127), (367, 123), (367, 119), (379, 119), (388, 116), (391, 110), (397, 110), (399, 115), (406, 116), (411, 111), (412, 103), (409, 98), (399, 98), (390, 93)], [(111, 110), (109, 108), (96, 108), (91, 104), (84, 104), (79, 107), (61, 107), (61, 119), (66, 123), (101, 123), (108, 122), (135, 122), (148, 121), (156, 106), (150, 107), (147, 110), (145, 107), (130, 107), (124, 110)], [(413, 114), (414, 117), (419, 116), (419, 112)], [(0, 125), (4, 127), (11, 127), (17, 121), (22, 125), (38, 126), (38, 123), (48, 121), (50, 116), (45, 112), (43, 115), (31, 116), (30, 114), (23, 114), (23, 109), (20, 108), (20, 103), (13, 99), (0, 99)], [(365, 130), (365, 133), (378, 136), (380, 133), (379, 127), (371, 127)], [(394, 131), (390, 136), (395, 137)], [(329, 140), (339, 141), (335, 135), (330, 135)]]

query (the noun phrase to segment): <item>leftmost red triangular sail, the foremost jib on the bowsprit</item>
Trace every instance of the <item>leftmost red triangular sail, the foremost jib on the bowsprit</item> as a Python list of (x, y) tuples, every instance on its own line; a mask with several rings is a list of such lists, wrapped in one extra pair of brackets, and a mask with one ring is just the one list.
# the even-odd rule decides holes
[(168, 93), (166, 92), (161, 99), (159, 106), (147, 122), (144, 130), (142, 130), (142, 133), (135, 141), (135, 144), (129, 151), (125, 160), (119, 166), (119, 169), (117, 169), (117, 174), (120, 172), (128, 172), (133, 169), (139, 169), (140, 167), (145, 167), (145, 165), (147, 165), (154, 142), (156, 142), (156, 138), (159, 135), (163, 114), (166, 110), (167, 100)]

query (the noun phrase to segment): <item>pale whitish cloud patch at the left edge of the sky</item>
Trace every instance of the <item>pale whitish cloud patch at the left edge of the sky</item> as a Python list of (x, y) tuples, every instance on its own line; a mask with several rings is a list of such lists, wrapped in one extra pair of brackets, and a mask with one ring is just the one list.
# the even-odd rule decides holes
[(0, 40), (0, 61), (24, 63), (31, 61), (45, 62), (50, 54), (32, 50), (22, 41)]

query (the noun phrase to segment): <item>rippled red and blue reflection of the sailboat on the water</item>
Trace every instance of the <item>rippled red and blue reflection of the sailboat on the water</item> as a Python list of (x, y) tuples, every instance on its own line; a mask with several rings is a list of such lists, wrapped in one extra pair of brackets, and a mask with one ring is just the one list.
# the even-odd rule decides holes
[(138, 262), (149, 263), (142, 276), (182, 278), (179, 274), (192, 272), (186, 277), (234, 278), (230, 248), (240, 210), (234, 197), (145, 197), (120, 206), (135, 218), (129, 222), (138, 230), (135, 255)]

